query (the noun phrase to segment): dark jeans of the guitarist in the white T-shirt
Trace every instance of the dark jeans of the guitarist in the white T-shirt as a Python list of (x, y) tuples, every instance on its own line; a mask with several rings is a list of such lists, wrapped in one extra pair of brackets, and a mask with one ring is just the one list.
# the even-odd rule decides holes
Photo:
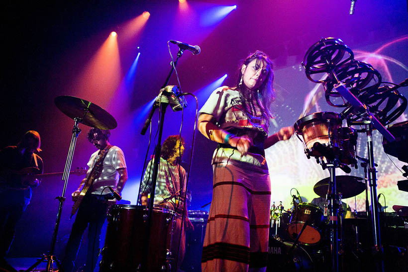
[(78, 208), (75, 222), (68, 239), (65, 257), (62, 261), (64, 272), (71, 272), (81, 245), (82, 235), (88, 227), (88, 251), (85, 272), (93, 272), (99, 255), (102, 225), (106, 218), (107, 202), (99, 195), (87, 194)]

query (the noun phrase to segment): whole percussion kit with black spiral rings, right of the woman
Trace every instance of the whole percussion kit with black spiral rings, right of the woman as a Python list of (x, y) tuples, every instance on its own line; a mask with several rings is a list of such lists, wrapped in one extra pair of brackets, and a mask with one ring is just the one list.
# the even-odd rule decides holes
[[(318, 245), (322, 241), (322, 229), (329, 230), (329, 260), (324, 271), (337, 272), (344, 267), (343, 213), (341, 199), (356, 196), (366, 190), (368, 203), (368, 185), (370, 184), (371, 204), (371, 243), (372, 259), (377, 271), (384, 271), (384, 252), (381, 244), (378, 216), (377, 177), (373, 155), (372, 131), (377, 129), (384, 136), (386, 153), (407, 159), (407, 141), (399, 141), (394, 135), (407, 129), (407, 122), (397, 124), (390, 131), (385, 127), (395, 121), (406, 109), (407, 99), (397, 91), (407, 86), (407, 81), (389, 87), (382, 82), (380, 73), (370, 64), (354, 60), (353, 52), (340, 39), (325, 38), (312, 45), (306, 52), (303, 66), (306, 77), (323, 84), (325, 98), (334, 107), (345, 107), (341, 113), (314, 112), (299, 119), (295, 133), (301, 140), (306, 157), (314, 157), (322, 169), (327, 169), (330, 177), (318, 181), (314, 192), (326, 199), (324, 209), (311, 203), (296, 204), (291, 212), (286, 230), (293, 243), (283, 242), (279, 235), (270, 237), (269, 267), (279, 266), (293, 271), (313, 271), (311, 258), (302, 246)], [(326, 74), (322, 77), (321, 73)], [(320, 75), (318, 75), (320, 74)], [(318, 76), (316, 76), (318, 75)], [(343, 126), (345, 120), (346, 126)], [(358, 128), (354, 128), (354, 127)], [(366, 133), (368, 159), (357, 156), (358, 133)], [(407, 134), (405, 134), (407, 135)], [(405, 136), (406, 137), (406, 136)], [(384, 143), (383, 143), (384, 144)], [(388, 150), (389, 151), (388, 151)], [(365, 166), (365, 183), (362, 178), (337, 176), (336, 168), (345, 173), (350, 167), (357, 168), (357, 159)], [(276, 227), (281, 224), (283, 207), (271, 209), (271, 220)], [(369, 209), (367, 209), (367, 213)], [(324, 224), (327, 218), (327, 224)], [(275, 224), (272, 223), (272, 226)], [(277, 231), (275, 230), (275, 234)], [(357, 237), (357, 235), (356, 235)], [(271, 239), (272, 238), (272, 239)], [(298, 245), (301, 244), (302, 246)], [(358, 244), (358, 242), (357, 242)], [(320, 249), (319, 249), (320, 251)], [(305, 254), (306, 253), (306, 254)], [(287, 255), (286, 258), (281, 258)], [(277, 257), (280, 256), (280, 257)], [(327, 258), (326, 258), (327, 259)]]

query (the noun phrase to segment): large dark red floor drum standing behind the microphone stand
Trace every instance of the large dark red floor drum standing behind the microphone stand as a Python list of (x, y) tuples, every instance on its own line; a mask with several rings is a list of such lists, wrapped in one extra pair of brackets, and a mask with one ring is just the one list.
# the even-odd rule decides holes
[[(100, 271), (137, 271), (143, 257), (146, 271), (166, 270), (174, 211), (154, 207), (149, 245), (146, 243), (148, 209), (139, 205), (113, 205), (107, 216)], [(143, 255), (148, 250), (147, 255)]]

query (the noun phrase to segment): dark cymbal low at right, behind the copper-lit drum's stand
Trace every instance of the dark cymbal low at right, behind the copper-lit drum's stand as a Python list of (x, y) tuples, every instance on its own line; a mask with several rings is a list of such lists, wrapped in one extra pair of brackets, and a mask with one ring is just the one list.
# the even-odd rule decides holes
[[(329, 180), (330, 178), (325, 178), (314, 184), (314, 192), (319, 196), (325, 197), (327, 194)], [(366, 188), (365, 183), (361, 182), (362, 180), (362, 178), (354, 176), (336, 176), (336, 191), (341, 192), (342, 199), (358, 195)]]

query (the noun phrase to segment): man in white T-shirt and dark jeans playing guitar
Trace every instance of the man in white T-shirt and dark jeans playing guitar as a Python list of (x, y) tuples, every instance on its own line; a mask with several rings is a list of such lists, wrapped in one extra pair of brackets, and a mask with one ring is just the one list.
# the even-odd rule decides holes
[[(125, 158), (122, 150), (109, 143), (109, 130), (92, 128), (88, 140), (98, 151), (91, 155), (88, 173), (76, 191), (72, 193), (73, 214), (78, 209), (71, 235), (65, 250), (62, 266), (71, 272), (81, 244), (82, 235), (88, 227), (88, 251), (86, 272), (94, 271), (99, 254), (101, 228), (106, 218), (108, 201), (114, 203), (111, 187), (121, 193), (127, 180)], [(110, 200), (108, 200), (110, 199)], [(80, 201), (80, 203), (78, 203)]]

